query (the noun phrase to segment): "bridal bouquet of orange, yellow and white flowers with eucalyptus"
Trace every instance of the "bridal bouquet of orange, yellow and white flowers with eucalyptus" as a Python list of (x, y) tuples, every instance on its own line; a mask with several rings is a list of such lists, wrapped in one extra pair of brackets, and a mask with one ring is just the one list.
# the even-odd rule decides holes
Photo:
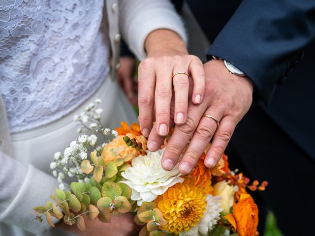
[[(138, 124), (103, 127), (99, 103), (96, 99), (75, 116), (82, 125), (79, 137), (50, 164), (60, 182), (51, 195), (55, 203), (34, 207), (35, 219), (45, 217), (54, 227), (56, 217), (85, 231), (85, 220), (106, 223), (112, 215), (131, 212), (144, 226), (140, 236), (258, 235), (258, 208), (248, 190), (264, 190), (266, 181), (250, 183), (242, 173), (230, 171), (226, 155), (213, 169), (206, 168), (209, 147), (189, 175), (181, 175), (177, 166), (165, 171), (161, 158), (171, 134), (151, 152)], [(67, 177), (76, 180), (69, 189), (63, 183)]]

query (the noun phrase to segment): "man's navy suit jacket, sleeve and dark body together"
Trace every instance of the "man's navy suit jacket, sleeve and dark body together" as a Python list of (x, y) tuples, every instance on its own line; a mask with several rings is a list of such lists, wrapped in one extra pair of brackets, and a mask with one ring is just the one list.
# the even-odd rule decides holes
[(315, 160), (315, 0), (187, 2), (212, 42), (209, 58), (241, 69), (261, 109)]

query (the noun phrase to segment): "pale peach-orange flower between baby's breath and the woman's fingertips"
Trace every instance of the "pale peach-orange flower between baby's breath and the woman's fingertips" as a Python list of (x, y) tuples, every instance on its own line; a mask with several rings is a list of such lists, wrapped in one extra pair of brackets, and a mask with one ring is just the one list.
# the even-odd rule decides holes
[[(107, 144), (102, 151), (102, 157), (104, 159), (105, 165), (108, 161), (115, 161), (119, 157), (127, 158), (127, 161), (131, 161), (133, 157), (140, 155), (140, 152), (132, 147), (128, 147), (124, 141), (125, 135), (118, 135), (113, 141)], [(138, 143), (142, 144), (142, 149), (147, 149), (147, 139), (140, 135), (137, 136), (132, 133), (127, 133), (130, 139), (136, 139)]]

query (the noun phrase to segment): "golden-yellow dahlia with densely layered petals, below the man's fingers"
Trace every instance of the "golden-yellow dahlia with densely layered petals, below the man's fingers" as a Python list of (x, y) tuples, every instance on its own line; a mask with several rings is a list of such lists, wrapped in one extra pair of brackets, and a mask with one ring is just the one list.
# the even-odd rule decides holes
[(204, 190), (194, 186), (194, 180), (189, 178), (169, 188), (156, 199), (158, 208), (168, 222), (160, 229), (180, 234), (196, 226), (206, 210), (206, 197)]

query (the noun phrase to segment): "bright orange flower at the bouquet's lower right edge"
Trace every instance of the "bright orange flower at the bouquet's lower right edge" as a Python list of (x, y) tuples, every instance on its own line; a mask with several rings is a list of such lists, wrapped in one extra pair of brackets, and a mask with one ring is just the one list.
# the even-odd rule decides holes
[(233, 213), (224, 217), (231, 223), (239, 236), (257, 235), (258, 207), (251, 195), (241, 194), (239, 202), (233, 204)]

